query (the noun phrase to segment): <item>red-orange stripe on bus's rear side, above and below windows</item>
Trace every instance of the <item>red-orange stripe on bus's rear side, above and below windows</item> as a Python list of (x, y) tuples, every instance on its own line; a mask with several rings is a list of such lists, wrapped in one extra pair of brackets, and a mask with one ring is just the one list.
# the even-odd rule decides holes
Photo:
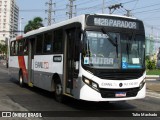
[[(18, 41), (22, 38), (23, 38), (23, 36), (17, 36), (16, 40)], [(27, 69), (26, 69), (24, 56), (18, 56), (18, 63), (19, 63), (19, 68), (22, 69), (23, 76), (28, 80), (28, 72), (27, 72)]]

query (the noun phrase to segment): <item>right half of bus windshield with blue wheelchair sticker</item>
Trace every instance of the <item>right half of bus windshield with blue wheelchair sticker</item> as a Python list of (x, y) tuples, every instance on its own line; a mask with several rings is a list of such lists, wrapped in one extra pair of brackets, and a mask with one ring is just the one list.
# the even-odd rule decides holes
[(122, 69), (144, 68), (145, 37), (121, 34)]

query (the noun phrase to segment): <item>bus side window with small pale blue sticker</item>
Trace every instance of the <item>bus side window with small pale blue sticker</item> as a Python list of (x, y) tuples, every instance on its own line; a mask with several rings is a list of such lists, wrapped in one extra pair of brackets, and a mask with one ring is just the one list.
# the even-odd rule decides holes
[(50, 53), (52, 51), (52, 32), (44, 34), (44, 53)]

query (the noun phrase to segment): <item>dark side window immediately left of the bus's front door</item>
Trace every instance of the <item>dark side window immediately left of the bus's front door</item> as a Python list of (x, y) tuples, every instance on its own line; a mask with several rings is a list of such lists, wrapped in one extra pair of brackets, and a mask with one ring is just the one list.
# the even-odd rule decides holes
[(63, 30), (56, 30), (54, 32), (54, 40), (53, 40), (53, 52), (54, 53), (62, 53), (62, 40), (63, 40)]

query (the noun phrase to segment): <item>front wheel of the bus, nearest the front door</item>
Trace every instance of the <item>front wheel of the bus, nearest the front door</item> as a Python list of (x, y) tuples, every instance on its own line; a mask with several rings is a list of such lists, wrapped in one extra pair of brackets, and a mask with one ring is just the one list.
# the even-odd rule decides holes
[(64, 96), (62, 94), (62, 84), (60, 82), (55, 82), (55, 99), (60, 103), (64, 100)]

